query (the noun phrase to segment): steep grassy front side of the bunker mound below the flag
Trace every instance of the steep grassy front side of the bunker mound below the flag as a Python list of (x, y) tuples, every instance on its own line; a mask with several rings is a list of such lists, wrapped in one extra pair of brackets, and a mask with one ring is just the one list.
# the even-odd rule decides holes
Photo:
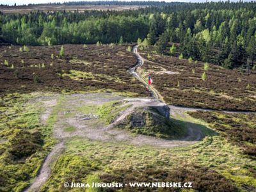
[(172, 120), (161, 115), (156, 108), (138, 108), (117, 125), (136, 134), (156, 136), (158, 138), (179, 138), (185, 131)]

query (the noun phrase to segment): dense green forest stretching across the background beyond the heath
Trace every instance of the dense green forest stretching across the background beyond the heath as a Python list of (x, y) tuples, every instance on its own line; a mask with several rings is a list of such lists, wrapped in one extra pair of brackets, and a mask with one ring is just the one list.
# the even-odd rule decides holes
[(144, 45), (156, 45), (159, 52), (173, 44), (184, 58), (225, 68), (253, 68), (256, 3), (142, 4), (148, 8), (2, 13), (1, 41), (19, 45), (105, 44), (140, 38)]

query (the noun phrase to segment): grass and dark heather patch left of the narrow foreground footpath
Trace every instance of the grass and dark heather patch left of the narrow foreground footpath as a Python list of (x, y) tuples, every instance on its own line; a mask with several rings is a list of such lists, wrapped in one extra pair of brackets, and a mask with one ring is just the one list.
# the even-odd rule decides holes
[(55, 142), (50, 134), (56, 121), (54, 111), (58, 111), (60, 105), (53, 110), (47, 125), (42, 125), (39, 122), (42, 104), (28, 102), (40, 95), (13, 93), (4, 97), (0, 115), (0, 139), (3, 140), (0, 174), (5, 182), (0, 186), (1, 191), (21, 191), (27, 186)]

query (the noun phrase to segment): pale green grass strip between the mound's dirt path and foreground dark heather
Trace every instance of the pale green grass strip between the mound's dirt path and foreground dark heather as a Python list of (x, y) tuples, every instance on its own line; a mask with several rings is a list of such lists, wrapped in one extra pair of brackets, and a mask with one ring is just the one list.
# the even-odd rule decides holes
[(141, 170), (143, 173), (147, 167), (152, 167), (167, 173), (189, 169), (192, 164), (216, 170), (236, 181), (239, 188), (242, 184), (256, 186), (253, 173), (249, 171), (250, 167), (255, 166), (255, 161), (241, 155), (239, 148), (220, 136), (210, 136), (191, 147), (174, 149), (136, 147), (127, 143), (105, 143), (84, 138), (74, 138), (66, 144), (65, 153), (54, 166), (54, 172), (42, 191), (61, 190), (63, 182), (86, 182), (91, 175), (115, 174), (120, 169)]

